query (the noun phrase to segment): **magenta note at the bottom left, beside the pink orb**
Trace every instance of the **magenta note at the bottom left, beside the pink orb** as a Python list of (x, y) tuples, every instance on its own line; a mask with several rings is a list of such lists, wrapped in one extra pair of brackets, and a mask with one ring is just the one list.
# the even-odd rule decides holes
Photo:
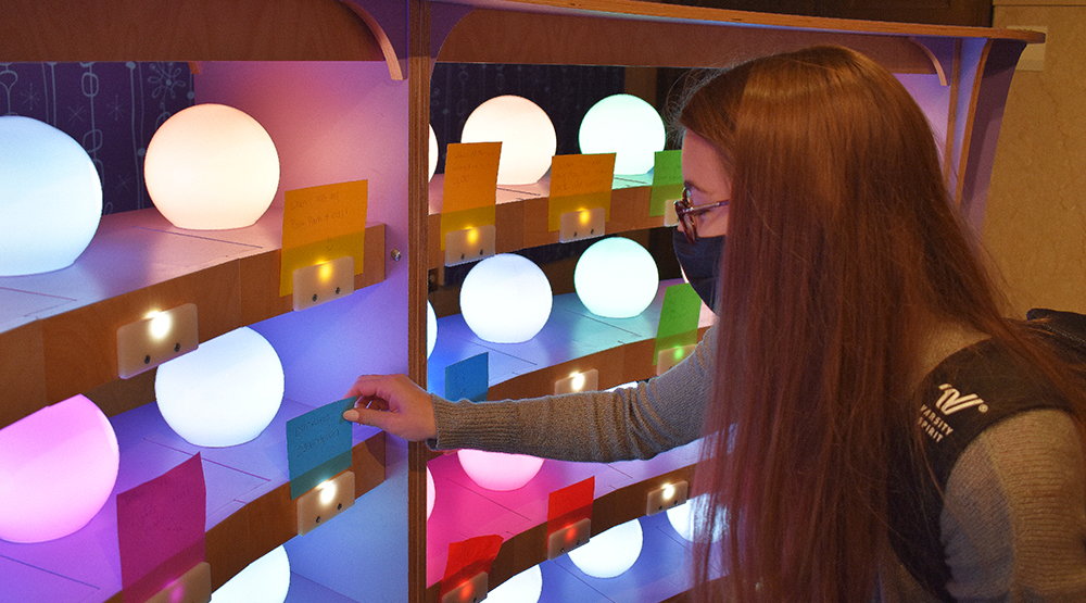
[(205, 561), (206, 490), (200, 453), (117, 494), (125, 603), (142, 603)]

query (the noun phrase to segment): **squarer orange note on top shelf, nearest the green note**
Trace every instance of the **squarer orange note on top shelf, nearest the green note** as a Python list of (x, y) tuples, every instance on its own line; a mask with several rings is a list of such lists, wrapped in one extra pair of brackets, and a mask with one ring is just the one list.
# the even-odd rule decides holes
[(557, 230), (561, 214), (603, 208), (610, 219), (615, 153), (555, 155), (551, 160), (551, 198), (547, 229)]

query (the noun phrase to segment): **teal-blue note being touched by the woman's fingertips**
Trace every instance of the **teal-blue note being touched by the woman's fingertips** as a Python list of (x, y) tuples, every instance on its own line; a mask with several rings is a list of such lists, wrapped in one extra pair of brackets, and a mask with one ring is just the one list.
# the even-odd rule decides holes
[(287, 422), (291, 500), (351, 468), (351, 423), (343, 412), (353, 409), (354, 401), (337, 400)]

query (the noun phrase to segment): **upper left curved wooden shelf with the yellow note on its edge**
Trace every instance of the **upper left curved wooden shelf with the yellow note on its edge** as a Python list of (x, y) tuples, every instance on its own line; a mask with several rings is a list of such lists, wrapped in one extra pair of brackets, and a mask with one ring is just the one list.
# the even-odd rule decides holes
[[(0, 277), (0, 361), (11, 375), (0, 427), (94, 388), (105, 388), (109, 415), (151, 402), (153, 373), (117, 381), (116, 364), (117, 327), (151, 311), (195, 303), (200, 341), (291, 312), (279, 296), (281, 223), (275, 209), (222, 231), (181, 230), (153, 209), (108, 215), (72, 266)], [(358, 289), (384, 279), (384, 225), (367, 226), (365, 241)]]

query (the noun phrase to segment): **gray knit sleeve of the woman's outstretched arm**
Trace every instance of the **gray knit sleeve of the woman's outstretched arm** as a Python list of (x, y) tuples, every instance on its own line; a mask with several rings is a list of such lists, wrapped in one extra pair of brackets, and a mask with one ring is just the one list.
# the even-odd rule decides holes
[(715, 330), (664, 375), (614, 392), (477, 403), (432, 395), (438, 437), (427, 443), (603, 463), (690, 443), (702, 436), (712, 388)]

